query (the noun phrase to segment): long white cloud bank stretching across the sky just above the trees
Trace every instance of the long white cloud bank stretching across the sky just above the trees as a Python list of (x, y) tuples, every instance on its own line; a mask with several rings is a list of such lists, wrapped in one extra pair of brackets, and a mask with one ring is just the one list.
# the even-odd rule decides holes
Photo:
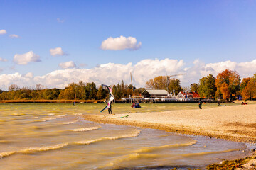
[[(68, 62), (67, 62), (68, 63)], [(72, 62), (70, 62), (72, 65)], [(65, 64), (64, 64), (65, 65)], [(69, 64), (66, 64), (69, 65)], [(251, 62), (232, 62), (230, 60), (225, 62), (205, 64), (199, 60), (195, 60), (192, 66), (188, 66), (183, 60), (142, 60), (136, 64), (131, 62), (127, 64), (100, 64), (98, 67), (92, 69), (60, 69), (50, 72), (43, 76), (34, 77), (32, 73), (22, 75), (20, 73), (14, 74), (0, 74), (0, 89), (6, 90), (11, 84), (18, 86), (36, 86), (42, 84), (48, 88), (63, 89), (68, 84), (78, 81), (95, 82), (97, 86), (100, 84), (117, 84), (124, 80), (124, 83), (130, 84), (129, 72), (132, 72), (133, 84), (137, 87), (144, 87), (146, 81), (160, 75), (183, 74), (186, 75), (175, 77), (181, 80), (182, 86), (189, 86), (192, 83), (198, 83), (201, 77), (208, 74), (213, 74), (215, 77), (219, 72), (225, 69), (232, 69), (240, 74), (240, 77), (252, 77), (256, 74), (256, 60)]]

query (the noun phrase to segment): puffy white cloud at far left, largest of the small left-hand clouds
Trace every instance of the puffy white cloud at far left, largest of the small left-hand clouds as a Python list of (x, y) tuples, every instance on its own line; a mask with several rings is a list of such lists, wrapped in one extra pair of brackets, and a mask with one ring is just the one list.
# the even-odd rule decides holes
[(22, 55), (14, 55), (14, 62), (16, 64), (26, 65), (28, 62), (41, 62), (41, 60), (39, 55), (36, 55), (33, 53), (33, 51), (30, 51)]

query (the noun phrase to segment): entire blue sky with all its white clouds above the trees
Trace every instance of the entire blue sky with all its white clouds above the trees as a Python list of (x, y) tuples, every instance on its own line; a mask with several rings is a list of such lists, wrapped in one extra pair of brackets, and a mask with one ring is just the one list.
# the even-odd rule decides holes
[(256, 74), (256, 1), (0, 0), (0, 89)]

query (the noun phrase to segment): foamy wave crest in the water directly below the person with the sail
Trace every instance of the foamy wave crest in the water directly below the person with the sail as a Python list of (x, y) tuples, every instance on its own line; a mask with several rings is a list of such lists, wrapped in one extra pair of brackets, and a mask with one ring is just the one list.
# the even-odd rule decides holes
[(122, 136), (115, 136), (115, 137), (101, 137), (95, 140), (83, 140), (83, 141), (78, 141), (78, 142), (73, 142), (75, 144), (85, 144), (85, 145), (89, 145), (95, 142), (100, 142), (103, 140), (118, 140), (118, 139), (122, 139), (122, 138), (127, 138), (127, 137), (137, 137), (140, 133), (140, 130), (134, 130), (133, 133), (127, 134), (127, 135), (122, 135)]

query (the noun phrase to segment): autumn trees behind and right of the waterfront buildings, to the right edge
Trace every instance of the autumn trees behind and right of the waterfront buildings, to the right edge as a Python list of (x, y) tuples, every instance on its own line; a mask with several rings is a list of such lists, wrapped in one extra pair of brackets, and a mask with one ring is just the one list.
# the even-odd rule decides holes
[(244, 100), (252, 100), (256, 98), (256, 74), (241, 81), (238, 72), (225, 69), (218, 73), (217, 77), (208, 74), (208, 76), (202, 77), (198, 83), (191, 84), (190, 87), (181, 87), (179, 79), (159, 76), (146, 81), (146, 88), (166, 89), (169, 93), (175, 90), (175, 95), (179, 91), (195, 91), (201, 98), (223, 98), (232, 101), (240, 95)]

